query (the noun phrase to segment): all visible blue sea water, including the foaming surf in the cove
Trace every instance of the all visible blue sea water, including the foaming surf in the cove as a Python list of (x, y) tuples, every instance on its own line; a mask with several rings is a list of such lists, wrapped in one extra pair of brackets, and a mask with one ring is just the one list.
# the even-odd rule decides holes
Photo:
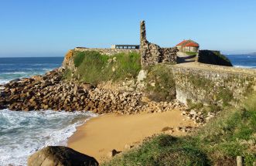
[[(236, 67), (256, 69), (256, 55), (227, 55)], [(0, 58), (0, 84), (43, 74), (61, 66), (63, 57)], [(90, 112), (0, 110), (0, 165), (26, 165), (27, 157), (48, 145), (67, 145)]]

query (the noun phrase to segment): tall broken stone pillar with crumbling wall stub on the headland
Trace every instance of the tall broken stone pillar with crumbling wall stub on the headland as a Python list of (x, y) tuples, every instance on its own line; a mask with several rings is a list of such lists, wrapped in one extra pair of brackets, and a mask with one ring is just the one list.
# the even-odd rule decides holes
[(140, 53), (142, 55), (142, 66), (152, 66), (157, 63), (176, 63), (179, 49), (161, 48), (160, 46), (148, 42), (146, 39), (145, 21), (141, 22), (140, 29)]

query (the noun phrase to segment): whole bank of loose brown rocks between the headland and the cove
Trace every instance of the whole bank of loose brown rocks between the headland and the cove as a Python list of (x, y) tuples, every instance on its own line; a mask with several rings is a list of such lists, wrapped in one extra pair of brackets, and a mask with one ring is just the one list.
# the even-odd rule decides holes
[(3, 87), (0, 109), (9, 110), (90, 110), (94, 113), (131, 114), (147, 111), (184, 110), (176, 100), (145, 102), (140, 92), (125, 92), (94, 87), (87, 83), (73, 83), (62, 79), (63, 68), (43, 76), (12, 80)]

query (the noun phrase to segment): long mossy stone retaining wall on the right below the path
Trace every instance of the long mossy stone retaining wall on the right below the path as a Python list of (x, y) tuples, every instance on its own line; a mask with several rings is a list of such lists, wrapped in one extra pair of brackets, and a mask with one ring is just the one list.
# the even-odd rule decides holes
[(176, 98), (222, 106), (256, 91), (256, 70), (197, 64), (170, 66), (176, 82)]

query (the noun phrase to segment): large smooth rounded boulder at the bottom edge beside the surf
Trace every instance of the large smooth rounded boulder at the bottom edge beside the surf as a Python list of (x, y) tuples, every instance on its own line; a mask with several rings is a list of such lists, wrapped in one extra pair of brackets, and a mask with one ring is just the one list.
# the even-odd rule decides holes
[(97, 166), (95, 158), (81, 154), (69, 147), (49, 146), (32, 154), (28, 166)]

